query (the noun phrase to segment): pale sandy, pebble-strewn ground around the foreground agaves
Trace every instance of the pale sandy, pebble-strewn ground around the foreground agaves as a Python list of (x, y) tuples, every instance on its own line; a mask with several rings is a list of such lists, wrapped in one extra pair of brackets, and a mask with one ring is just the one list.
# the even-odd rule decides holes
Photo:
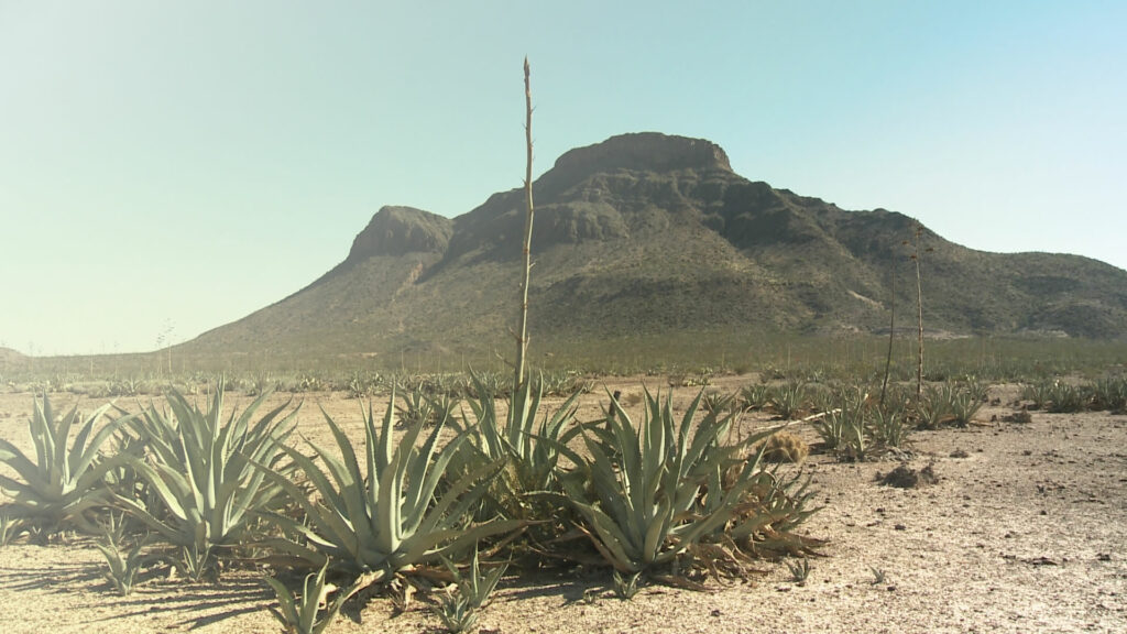
[[(650, 379), (650, 385), (654, 384)], [(721, 389), (747, 382), (724, 379)], [(640, 379), (610, 389), (639, 393)], [(663, 386), (664, 387), (664, 386)], [(693, 389), (677, 390), (682, 405)], [(598, 573), (502, 582), (481, 613), (488, 633), (517, 632), (1125, 632), (1127, 631), (1127, 416), (1033, 413), (1027, 424), (992, 421), (1011, 412), (1014, 386), (992, 396), (967, 430), (917, 432), (909, 466), (939, 477), (917, 488), (875, 481), (897, 463), (837, 464), (813, 456), (825, 509), (806, 530), (828, 539), (804, 585), (782, 564), (746, 583), (709, 592), (660, 585), (620, 601)], [(284, 398), (284, 397), (275, 397)], [(601, 390), (582, 420), (597, 415)], [(73, 402), (56, 395), (56, 405)], [(301, 431), (325, 433), (321, 403), (362, 441), (357, 402), (312, 394)], [(124, 404), (124, 402), (122, 402)], [(81, 404), (90, 410), (99, 402)], [(27, 448), (32, 397), (0, 395), (0, 435)], [(748, 417), (748, 426), (765, 424)], [(811, 435), (813, 440), (813, 435)], [(957, 450), (961, 450), (957, 452)], [(953, 457), (962, 456), (966, 457)], [(88, 539), (0, 548), (0, 632), (277, 632), (273, 596), (254, 572), (219, 585), (148, 578), (127, 598), (103, 578)], [(885, 572), (875, 582), (873, 569)], [(585, 600), (585, 592), (587, 600)], [(431, 632), (423, 602), (393, 616), (375, 597), (346, 609), (329, 632)]]

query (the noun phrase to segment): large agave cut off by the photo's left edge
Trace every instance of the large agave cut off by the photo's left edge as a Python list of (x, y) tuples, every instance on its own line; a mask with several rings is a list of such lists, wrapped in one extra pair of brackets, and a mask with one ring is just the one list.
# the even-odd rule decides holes
[(0, 491), (12, 499), (14, 516), (44, 528), (80, 528), (96, 532), (91, 512), (108, 500), (103, 481), (127, 458), (106, 457), (101, 444), (130, 420), (118, 417), (95, 431), (95, 426), (112, 405), (99, 407), (82, 423), (74, 441), (70, 431), (79, 421), (78, 407), (55, 422), (51, 400), (35, 400), (28, 431), (35, 446), (35, 459), (5, 439), (0, 439), (0, 463), (16, 472), (16, 477), (0, 475)]

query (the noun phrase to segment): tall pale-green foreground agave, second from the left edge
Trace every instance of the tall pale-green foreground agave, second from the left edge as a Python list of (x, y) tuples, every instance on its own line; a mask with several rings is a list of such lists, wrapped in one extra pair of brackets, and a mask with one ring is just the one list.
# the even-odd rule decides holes
[(133, 457), (131, 464), (151, 487), (158, 508), (116, 496), (123, 509), (181, 549), (180, 563), (194, 579), (210, 570), (216, 547), (238, 544), (250, 520), (279, 499), (282, 487), (255, 464), (276, 464), (296, 425), (296, 408), (279, 419), (289, 402), (251, 424), (268, 391), (224, 421), (223, 391), (221, 381), (210, 407), (202, 411), (172, 390), (171, 416), (150, 407), (136, 419), (133, 426), (148, 442), (149, 455)]

